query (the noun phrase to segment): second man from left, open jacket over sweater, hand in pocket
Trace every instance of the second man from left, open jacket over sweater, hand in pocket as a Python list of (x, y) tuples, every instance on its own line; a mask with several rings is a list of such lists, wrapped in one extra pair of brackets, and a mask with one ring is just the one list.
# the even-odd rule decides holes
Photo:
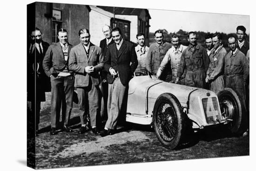
[[(61, 28), (58, 31), (59, 42), (49, 46), (43, 60), (43, 68), (48, 77), (51, 78), (52, 99), (51, 99), (51, 135), (57, 134), (61, 111), (61, 101), (65, 99), (65, 106), (62, 113), (65, 113), (63, 130), (73, 132), (68, 128), (68, 121), (73, 107), (74, 74), (69, 71), (68, 57), (73, 47), (67, 41), (67, 30)], [(63, 118), (63, 117), (62, 117)]]

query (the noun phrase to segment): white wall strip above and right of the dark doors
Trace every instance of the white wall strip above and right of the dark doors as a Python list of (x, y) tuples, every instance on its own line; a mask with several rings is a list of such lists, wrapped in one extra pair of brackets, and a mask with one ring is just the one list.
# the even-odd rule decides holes
[(138, 16), (137, 15), (116, 15), (124, 20), (131, 21), (130, 23), (130, 41), (137, 43), (136, 35), (138, 34)]

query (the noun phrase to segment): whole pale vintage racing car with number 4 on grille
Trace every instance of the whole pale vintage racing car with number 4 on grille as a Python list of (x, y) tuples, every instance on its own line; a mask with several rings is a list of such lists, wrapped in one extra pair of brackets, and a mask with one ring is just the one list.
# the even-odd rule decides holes
[(182, 143), (189, 125), (196, 130), (226, 124), (237, 133), (243, 131), (245, 119), (242, 102), (230, 88), (216, 95), (202, 88), (164, 82), (145, 69), (135, 71), (129, 82), (126, 121), (152, 124), (157, 138), (169, 149)]

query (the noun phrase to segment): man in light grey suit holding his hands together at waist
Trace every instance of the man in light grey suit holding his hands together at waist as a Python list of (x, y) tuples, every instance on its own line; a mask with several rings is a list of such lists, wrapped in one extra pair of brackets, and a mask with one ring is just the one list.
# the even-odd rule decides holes
[(77, 88), (80, 110), (83, 113), (82, 126), (78, 133), (86, 132), (88, 104), (90, 125), (94, 134), (98, 134), (96, 118), (99, 114), (99, 72), (103, 68), (103, 56), (101, 48), (90, 42), (88, 29), (81, 29), (78, 34), (81, 43), (74, 46), (69, 58), (69, 69), (75, 72), (74, 86)]

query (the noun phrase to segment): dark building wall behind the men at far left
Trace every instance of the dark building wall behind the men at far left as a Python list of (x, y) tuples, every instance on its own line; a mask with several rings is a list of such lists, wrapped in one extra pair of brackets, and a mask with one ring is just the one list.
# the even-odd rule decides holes
[[(51, 3), (36, 2), (35, 26), (43, 32), (43, 40), (52, 44), (52, 19), (45, 14), (50, 13)], [(61, 10), (62, 28), (67, 29), (68, 41), (72, 45), (80, 43), (78, 31), (89, 29), (89, 10), (86, 5), (52, 3), (54, 9)], [(83, 16), (83, 17), (81, 17)]]

